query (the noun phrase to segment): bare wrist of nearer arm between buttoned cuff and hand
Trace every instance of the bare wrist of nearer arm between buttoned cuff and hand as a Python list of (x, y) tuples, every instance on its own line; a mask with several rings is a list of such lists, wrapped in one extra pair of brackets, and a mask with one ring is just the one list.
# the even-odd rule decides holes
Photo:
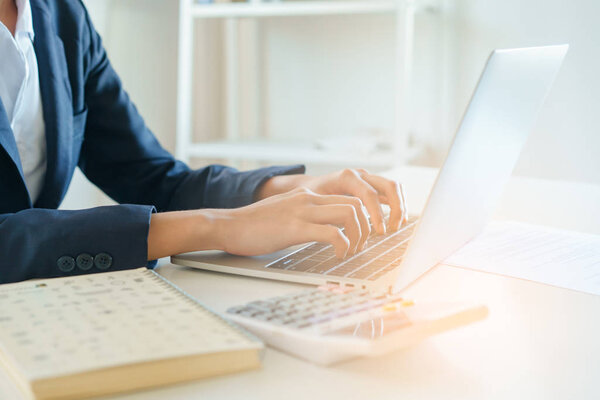
[(224, 215), (219, 210), (153, 214), (148, 231), (148, 260), (200, 250), (222, 250), (218, 239)]

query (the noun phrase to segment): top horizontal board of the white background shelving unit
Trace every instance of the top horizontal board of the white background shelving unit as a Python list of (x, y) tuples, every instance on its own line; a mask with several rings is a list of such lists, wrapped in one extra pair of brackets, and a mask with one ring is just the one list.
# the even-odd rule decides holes
[(396, 0), (194, 4), (192, 14), (197, 18), (381, 14), (396, 11), (398, 4)]

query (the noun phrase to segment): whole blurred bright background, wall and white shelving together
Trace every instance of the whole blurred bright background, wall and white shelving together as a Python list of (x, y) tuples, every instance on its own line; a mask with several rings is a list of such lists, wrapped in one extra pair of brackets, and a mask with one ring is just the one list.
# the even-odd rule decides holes
[[(194, 167), (439, 167), (493, 49), (569, 43), (515, 174), (600, 183), (596, 0), (84, 3), (148, 126)], [(63, 208), (108, 203), (78, 172)]]

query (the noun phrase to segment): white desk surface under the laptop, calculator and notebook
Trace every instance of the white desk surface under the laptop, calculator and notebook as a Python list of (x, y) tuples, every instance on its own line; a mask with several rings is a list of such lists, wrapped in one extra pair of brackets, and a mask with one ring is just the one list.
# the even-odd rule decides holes
[[(435, 170), (393, 175), (419, 210)], [(599, 205), (598, 186), (517, 178), (497, 215), (599, 234)], [(159, 272), (217, 311), (300, 286), (174, 265)], [(490, 315), (383, 357), (322, 368), (269, 349), (261, 370), (115, 399), (600, 398), (600, 297), (444, 265), (406, 295), (477, 300)]]

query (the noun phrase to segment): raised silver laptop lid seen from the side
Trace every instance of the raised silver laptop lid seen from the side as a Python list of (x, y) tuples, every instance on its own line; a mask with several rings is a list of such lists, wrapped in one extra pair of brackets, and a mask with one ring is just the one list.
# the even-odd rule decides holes
[(391, 274), (395, 291), (485, 226), (567, 49), (560, 45), (492, 52), (405, 258)]

